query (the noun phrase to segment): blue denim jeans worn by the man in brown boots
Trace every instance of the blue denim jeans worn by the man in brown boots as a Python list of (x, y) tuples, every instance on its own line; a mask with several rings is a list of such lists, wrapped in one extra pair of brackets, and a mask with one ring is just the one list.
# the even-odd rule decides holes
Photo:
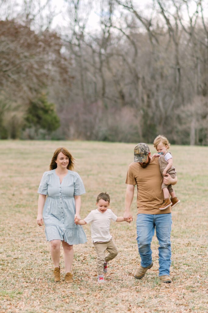
[(152, 263), (150, 244), (156, 230), (159, 241), (159, 276), (170, 275), (171, 266), (171, 213), (137, 214), (137, 243), (142, 267)]

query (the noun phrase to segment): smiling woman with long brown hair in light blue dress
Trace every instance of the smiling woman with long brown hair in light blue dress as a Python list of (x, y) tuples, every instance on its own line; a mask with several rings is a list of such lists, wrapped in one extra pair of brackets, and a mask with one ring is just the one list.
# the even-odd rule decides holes
[(85, 193), (79, 174), (72, 171), (74, 164), (75, 159), (66, 148), (57, 148), (50, 171), (44, 172), (38, 189), (37, 223), (45, 224), (56, 282), (60, 281), (60, 243), (64, 250), (65, 282), (70, 283), (73, 244), (87, 241), (82, 226), (74, 223), (75, 218), (80, 218), (81, 194)]

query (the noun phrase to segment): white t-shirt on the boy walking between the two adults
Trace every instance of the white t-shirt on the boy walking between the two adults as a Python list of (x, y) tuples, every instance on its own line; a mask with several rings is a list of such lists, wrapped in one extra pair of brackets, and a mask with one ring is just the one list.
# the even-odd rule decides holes
[(84, 218), (86, 223), (90, 223), (92, 242), (109, 241), (112, 236), (110, 235), (110, 220), (114, 222), (117, 220), (117, 216), (107, 209), (104, 213), (96, 210), (92, 210), (87, 217)]

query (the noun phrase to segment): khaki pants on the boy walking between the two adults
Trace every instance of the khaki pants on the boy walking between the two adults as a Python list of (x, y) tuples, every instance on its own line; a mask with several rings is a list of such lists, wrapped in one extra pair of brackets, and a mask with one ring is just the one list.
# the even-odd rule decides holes
[[(102, 275), (104, 262), (108, 262), (108, 261), (114, 259), (116, 257), (116, 255), (118, 254), (118, 250), (117, 250), (112, 239), (110, 239), (107, 242), (97, 241), (97, 242), (94, 242), (93, 244), (94, 244), (94, 248), (95, 248), (96, 253), (97, 253), (98, 275)], [(109, 252), (109, 254), (106, 255), (106, 257), (105, 257), (105, 250), (107, 250)]]

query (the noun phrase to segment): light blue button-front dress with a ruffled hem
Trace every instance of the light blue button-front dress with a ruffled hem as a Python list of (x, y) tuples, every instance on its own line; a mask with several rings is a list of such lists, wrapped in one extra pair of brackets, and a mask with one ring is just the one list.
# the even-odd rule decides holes
[(85, 193), (80, 175), (68, 170), (60, 184), (55, 169), (44, 172), (38, 193), (48, 195), (43, 208), (46, 240), (64, 240), (68, 244), (83, 244), (87, 241), (84, 229), (76, 225), (75, 196)]

